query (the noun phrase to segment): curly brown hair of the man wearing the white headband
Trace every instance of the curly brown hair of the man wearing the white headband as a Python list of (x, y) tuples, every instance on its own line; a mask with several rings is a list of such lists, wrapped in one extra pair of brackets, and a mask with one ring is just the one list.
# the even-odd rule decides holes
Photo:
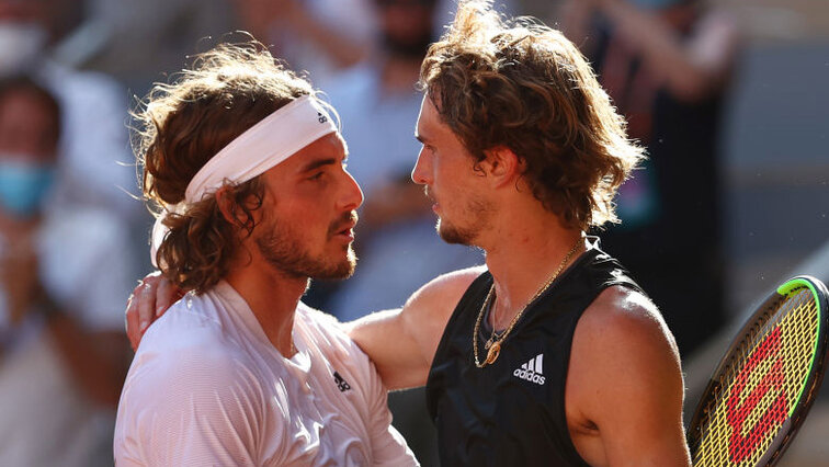
[(253, 212), (264, 185), (257, 176), (226, 184), (232, 218), (215, 196), (184, 201), (188, 184), (219, 150), (261, 119), (303, 95), (310, 83), (276, 62), (254, 41), (222, 44), (195, 57), (171, 83), (157, 83), (133, 111), (133, 147), (143, 166), (145, 200), (169, 228), (156, 263), (179, 287), (205, 292), (227, 275), (242, 235), (255, 227)]

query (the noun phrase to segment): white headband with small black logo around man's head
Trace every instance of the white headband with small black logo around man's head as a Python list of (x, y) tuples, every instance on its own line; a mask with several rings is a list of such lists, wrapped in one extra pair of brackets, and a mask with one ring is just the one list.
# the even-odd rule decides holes
[[(211, 158), (188, 184), (184, 201), (200, 202), (226, 181), (247, 182), (331, 133), (337, 133), (337, 126), (322, 104), (303, 95), (248, 128)], [(150, 258), (156, 266), (156, 252), (168, 230), (161, 223), (163, 217), (156, 219), (150, 237)]]

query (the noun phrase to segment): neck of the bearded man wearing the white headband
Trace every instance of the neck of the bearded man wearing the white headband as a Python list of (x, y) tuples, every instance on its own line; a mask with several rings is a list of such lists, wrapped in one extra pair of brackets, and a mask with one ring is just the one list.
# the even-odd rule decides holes
[(225, 280), (245, 298), (273, 346), (291, 357), (294, 314), (308, 278), (289, 277), (273, 267), (255, 267), (254, 262), (231, 269)]

